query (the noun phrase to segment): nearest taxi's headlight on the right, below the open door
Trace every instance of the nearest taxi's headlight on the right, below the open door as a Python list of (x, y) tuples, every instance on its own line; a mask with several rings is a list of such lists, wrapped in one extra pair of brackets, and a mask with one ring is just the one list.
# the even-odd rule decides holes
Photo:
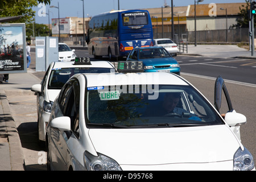
[(250, 171), (254, 168), (253, 156), (250, 152), (244, 148), (242, 151), (241, 147), (238, 148), (234, 154), (234, 171)]

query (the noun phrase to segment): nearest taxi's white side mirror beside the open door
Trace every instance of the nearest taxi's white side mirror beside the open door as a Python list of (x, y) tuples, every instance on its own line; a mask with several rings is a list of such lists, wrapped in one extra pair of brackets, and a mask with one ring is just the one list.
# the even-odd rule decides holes
[(229, 126), (241, 126), (246, 123), (246, 117), (243, 114), (237, 113), (235, 110), (225, 114), (225, 121)]

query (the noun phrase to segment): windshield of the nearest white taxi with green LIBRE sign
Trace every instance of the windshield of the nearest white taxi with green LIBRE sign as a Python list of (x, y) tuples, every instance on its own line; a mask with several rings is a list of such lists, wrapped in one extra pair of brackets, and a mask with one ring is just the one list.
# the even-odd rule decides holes
[[(154, 86), (153, 86), (154, 87)], [(116, 85), (87, 88), (88, 127), (186, 127), (223, 124), (191, 86)]]

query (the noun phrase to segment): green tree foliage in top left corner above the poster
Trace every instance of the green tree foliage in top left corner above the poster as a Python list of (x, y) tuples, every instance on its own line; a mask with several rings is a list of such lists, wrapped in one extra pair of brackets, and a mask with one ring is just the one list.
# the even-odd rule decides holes
[(0, 17), (19, 16), (23, 15), (19, 20), (9, 23), (27, 23), (34, 20), (35, 11), (33, 6), (38, 6), (39, 3), (50, 4), (51, 0), (1, 0), (0, 1)]

